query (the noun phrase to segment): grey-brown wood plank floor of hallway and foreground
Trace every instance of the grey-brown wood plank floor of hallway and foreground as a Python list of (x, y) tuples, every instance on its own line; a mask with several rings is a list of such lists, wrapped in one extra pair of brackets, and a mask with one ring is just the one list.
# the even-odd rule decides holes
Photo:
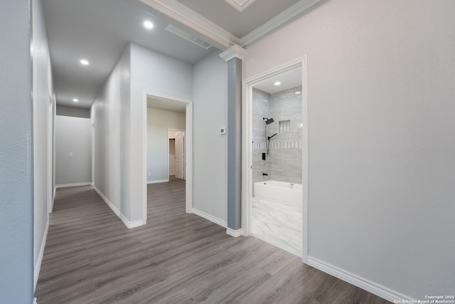
[(185, 213), (185, 184), (148, 186), (127, 229), (91, 187), (57, 190), (35, 296), (45, 303), (389, 303), (253, 237)]

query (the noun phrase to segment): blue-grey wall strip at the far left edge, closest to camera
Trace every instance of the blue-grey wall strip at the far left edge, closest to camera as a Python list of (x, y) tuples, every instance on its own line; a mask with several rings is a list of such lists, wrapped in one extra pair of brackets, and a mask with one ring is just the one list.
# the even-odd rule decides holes
[(33, 300), (33, 111), (28, 1), (0, 9), (0, 302)]

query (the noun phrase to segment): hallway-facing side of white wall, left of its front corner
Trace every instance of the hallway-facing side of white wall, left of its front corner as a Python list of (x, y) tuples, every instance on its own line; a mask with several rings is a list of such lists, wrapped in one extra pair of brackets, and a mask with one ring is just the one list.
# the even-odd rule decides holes
[[(124, 182), (128, 177), (122, 175), (120, 153), (124, 153), (121, 136), (126, 136), (128, 130), (124, 120), (121, 120), (121, 111), (125, 115), (129, 108), (129, 65), (128, 46), (98, 94), (90, 114), (95, 127), (95, 187), (127, 220), (129, 205), (127, 201), (122, 201), (121, 196), (129, 191), (129, 185)], [(123, 159), (125, 157), (127, 155)]]

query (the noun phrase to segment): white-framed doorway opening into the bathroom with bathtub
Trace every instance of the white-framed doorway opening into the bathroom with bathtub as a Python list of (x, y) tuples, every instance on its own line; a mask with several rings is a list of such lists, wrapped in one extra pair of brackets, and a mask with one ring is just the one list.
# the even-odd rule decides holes
[[(306, 57), (248, 78), (243, 88), (242, 158), (246, 164), (242, 169), (243, 234), (301, 256), (306, 263), (309, 175)], [(262, 223), (264, 214), (277, 218)], [(270, 229), (271, 222), (279, 223), (277, 231)]]

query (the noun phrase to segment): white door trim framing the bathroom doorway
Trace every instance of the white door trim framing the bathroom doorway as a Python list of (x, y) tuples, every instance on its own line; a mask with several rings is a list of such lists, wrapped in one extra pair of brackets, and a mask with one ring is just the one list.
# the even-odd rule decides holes
[(309, 248), (309, 105), (308, 105), (308, 77), (307, 57), (297, 59), (278, 68), (265, 71), (245, 79), (242, 82), (242, 229), (243, 235), (251, 234), (252, 214), (252, 88), (257, 83), (289, 70), (301, 68), (302, 73), (302, 262), (308, 263)]

